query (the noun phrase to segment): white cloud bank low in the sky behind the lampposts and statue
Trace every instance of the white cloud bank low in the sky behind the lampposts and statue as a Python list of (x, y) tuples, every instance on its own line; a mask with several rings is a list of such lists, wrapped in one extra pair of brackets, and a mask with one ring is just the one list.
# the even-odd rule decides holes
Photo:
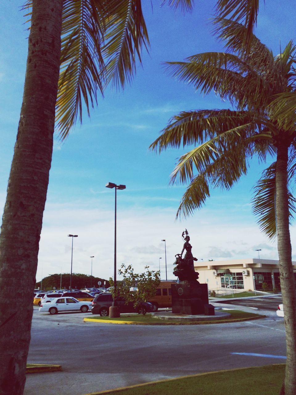
[[(73, 272), (93, 274), (109, 279), (114, 272), (114, 211), (85, 204), (47, 204), (41, 233), (37, 280), (52, 273), (69, 273), (71, 265), (70, 234), (73, 240)], [(88, 207), (90, 208), (88, 208)], [(277, 259), (276, 249), (254, 226), (217, 223), (215, 215), (200, 211), (184, 222), (175, 221), (174, 209), (144, 208), (117, 211), (117, 268), (122, 263), (133, 265), (136, 272), (148, 265), (153, 270), (161, 265), (161, 278), (165, 278), (165, 243), (167, 250), (167, 276), (174, 278), (172, 269), (175, 255), (182, 251), (182, 231), (187, 228), (192, 252), (198, 260), (225, 258), (257, 258), (255, 246), (260, 243), (260, 258)], [(240, 246), (242, 248), (240, 248)], [(270, 248), (269, 248), (270, 247)]]

